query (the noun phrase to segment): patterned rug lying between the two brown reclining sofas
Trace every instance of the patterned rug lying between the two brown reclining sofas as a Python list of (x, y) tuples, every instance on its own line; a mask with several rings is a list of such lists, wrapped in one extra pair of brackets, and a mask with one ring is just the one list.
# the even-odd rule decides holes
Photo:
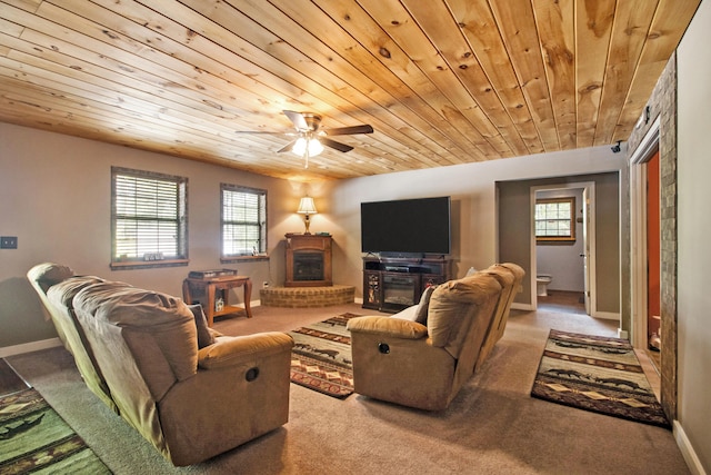
[(294, 340), (291, 382), (333, 397), (351, 395), (351, 336), (346, 324), (359, 316), (347, 313), (289, 331)]

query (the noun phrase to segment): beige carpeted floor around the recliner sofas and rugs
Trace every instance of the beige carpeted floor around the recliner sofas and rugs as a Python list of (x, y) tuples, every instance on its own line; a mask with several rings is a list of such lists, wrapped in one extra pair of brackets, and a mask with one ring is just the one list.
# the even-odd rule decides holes
[[(253, 308), (223, 318), (226, 334), (289, 331), (359, 305), (320, 309)], [(613, 321), (512, 311), (481, 372), (437, 414), (359, 395), (337, 399), (291, 385), (289, 423), (207, 463), (174, 468), (81, 382), (61, 348), (10, 363), (76, 428), (116, 474), (687, 474), (670, 431), (532, 398), (551, 328), (615, 336)], [(200, 404), (200, 400), (196, 400)]]

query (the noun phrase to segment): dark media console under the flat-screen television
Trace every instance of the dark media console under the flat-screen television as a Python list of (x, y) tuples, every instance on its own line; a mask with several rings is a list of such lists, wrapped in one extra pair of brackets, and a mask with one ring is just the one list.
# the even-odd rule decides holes
[(363, 257), (363, 308), (400, 311), (429, 286), (449, 280), (448, 258)]

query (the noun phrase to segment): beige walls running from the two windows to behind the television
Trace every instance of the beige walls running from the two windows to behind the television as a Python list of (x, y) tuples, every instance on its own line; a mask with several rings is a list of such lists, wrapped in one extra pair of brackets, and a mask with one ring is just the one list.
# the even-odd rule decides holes
[[(623, 166), (609, 147), (599, 147), (303, 185), (7, 123), (0, 123), (0, 235), (19, 238), (17, 250), (0, 250), (0, 348), (56, 336), (26, 279), (27, 270), (40, 261), (59, 261), (80, 274), (173, 295), (180, 295), (189, 269), (237, 267), (252, 277), (252, 300), (258, 300), (262, 281), (283, 283), (283, 235), (303, 229), (292, 210), (309, 192), (319, 209), (311, 230), (333, 235), (334, 279), (356, 286), (358, 296), (362, 293), (361, 201), (452, 196), (452, 273), (457, 277), (471, 266), (483, 268), (498, 260), (494, 181), (610, 171)], [(188, 177), (189, 267), (109, 268), (111, 166)], [(221, 181), (269, 190), (269, 261), (220, 264)]]

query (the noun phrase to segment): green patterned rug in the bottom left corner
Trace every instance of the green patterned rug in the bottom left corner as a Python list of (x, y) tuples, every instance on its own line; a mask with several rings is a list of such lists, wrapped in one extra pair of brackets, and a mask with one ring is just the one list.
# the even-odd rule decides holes
[(0, 397), (0, 473), (111, 471), (33, 388)]

